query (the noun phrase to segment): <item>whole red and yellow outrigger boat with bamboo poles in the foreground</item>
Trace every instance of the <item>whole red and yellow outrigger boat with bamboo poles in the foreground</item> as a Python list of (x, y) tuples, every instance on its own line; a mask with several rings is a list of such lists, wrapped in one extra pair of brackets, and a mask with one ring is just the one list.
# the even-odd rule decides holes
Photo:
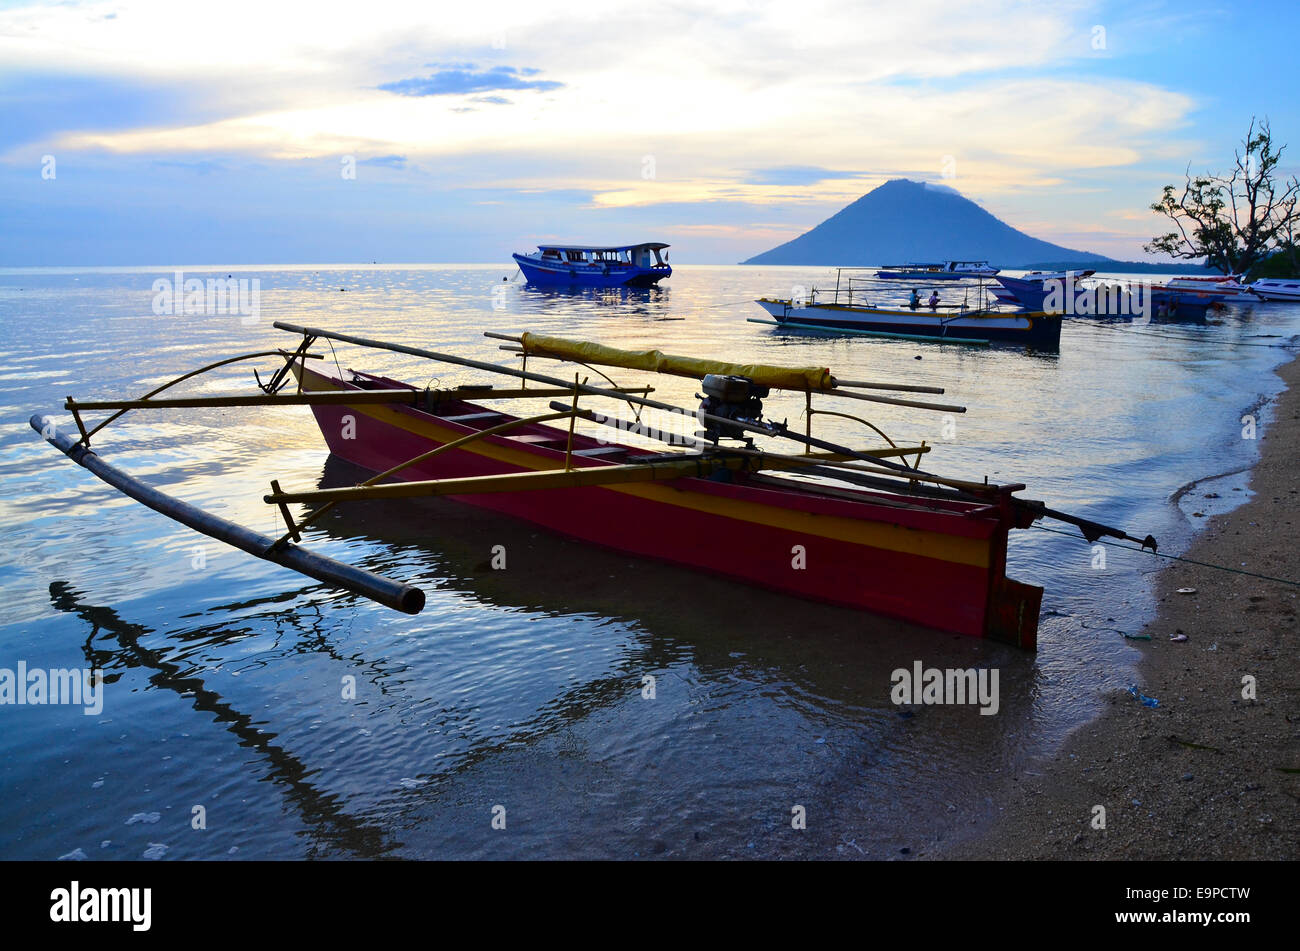
[[(861, 608), (971, 637), (1035, 648), (1043, 589), (1005, 574), (1008, 534), (1039, 518), (1076, 525), (1089, 540), (1101, 535), (1140, 542), (1119, 529), (1022, 499), (1023, 485), (945, 478), (920, 468), (931, 447), (900, 446), (870, 421), (838, 409), (814, 408), (812, 398), (902, 405), (959, 413), (965, 407), (911, 399), (942, 394), (911, 383), (848, 381), (818, 366), (737, 365), (623, 351), (536, 334), (488, 333), (519, 353), (516, 369), (294, 323), (295, 349), (263, 351), (187, 373), (134, 400), (78, 401), (64, 408), (75, 427), (32, 416), (31, 426), (61, 452), (127, 496), (196, 531), (291, 568), (337, 589), (417, 613), (424, 592), (302, 546), (303, 533), (342, 503), (451, 496), (503, 512), (593, 544), (729, 576), (767, 589)], [(503, 388), (420, 388), (356, 370), (334, 373), (309, 361), (317, 340), (355, 344), (511, 377)], [(228, 364), (277, 357), (281, 365), (260, 392), (208, 396), (160, 395), (183, 379)], [(692, 411), (650, 398), (653, 387), (620, 387), (528, 369), (529, 360), (647, 370), (698, 379), (705, 391)], [(294, 391), (286, 391), (290, 377)], [(608, 377), (606, 377), (608, 379)], [(803, 431), (763, 418), (772, 390), (803, 394)], [(892, 395), (885, 395), (892, 394)], [(547, 399), (549, 412), (512, 416), (488, 404)], [(632, 418), (610, 414), (624, 404)], [(126, 412), (198, 407), (308, 405), (330, 451), (374, 472), (360, 485), (289, 491), (272, 481), (264, 500), (278, 509), (285, 533), (261, 535), (160, 492), (104, 461), (91, 438)], [(681, 414), (690, 434), (668, 435), (642, 425), (654, 409)], [(87, 427), (83, 413), (110, 411)], [(855, 450), (812, 435), (812, 416), (866, 425), (881, 444)], [(612, 426), (672, 444), (659, 451), (585, 435), (578, 421)], [(551, 425), (558, 424), (558, 425)], [(604, 430), (598, 430), (603, 433)], [(754, 438), (798, 443), (783, 453)], [(818, 481), (810, 481), (818, 479)], [(299, 507), (308, 507), (306, 511)], [(292, 508), (291, 508), (292, 507)], [(429, 526), (436, 535), (437, 525)]]

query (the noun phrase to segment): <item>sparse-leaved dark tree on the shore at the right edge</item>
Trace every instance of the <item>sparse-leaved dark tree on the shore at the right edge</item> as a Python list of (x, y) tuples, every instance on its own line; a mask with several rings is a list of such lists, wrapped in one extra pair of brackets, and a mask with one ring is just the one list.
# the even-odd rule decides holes
[(1300, 222), (1296, 201), (1300, 181), (1277, 182), (1277, 168), (1286, 146), (1273, 148), (1273, 131), (1265, 118), (1256, 129), (1254, 118), (1234, 151), (1236, 160), (1228, 175), (1192, 178), (1191, 166), (1183, 194), (1166, 184), (1160, 201), (1150, 209), (1174, 222), (1176, 231), (1153, 238), (1144, 248), (1171, 257), (1205, 259), (1205, 264), (1225, 274), (1242, 274), (1273, 251), (1290, 246)]

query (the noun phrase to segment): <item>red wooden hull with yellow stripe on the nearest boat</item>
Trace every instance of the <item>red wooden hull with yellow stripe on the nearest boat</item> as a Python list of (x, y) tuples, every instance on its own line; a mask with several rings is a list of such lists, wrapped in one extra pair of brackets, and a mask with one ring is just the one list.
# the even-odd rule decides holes
[[(406, 386), (376, 377), (358, 379), (363, 386)], [(302, 373), (302, 381), (306, 390), (355, 388), (311, 370)], [(316, 405), (312, 412), (334, 455), (373, 472), (476, 427), (514, 418), (446, 418), (490, 412), (462, 401), (443, 403), (432, 413), (403, 405)], [(406, 469), (402, 478), (562, 468), (566, 439), (567, 431), (525, 426), (441, 453)], [(599, 450), (602, 443), (576, 435), (573, 448)], [(630, 459), (619, 461), (650, 453), (624, 448)], [(573, 461), (581, 466), (610, 464), (580, 456)], [(1035, 646), (1043, 591), (1005, 577), (1006, 537), (1013, 527), (1005, 511), (948, 500), (922, 507), (914, 499), (863, 490), (832, 496), (772, 482), (737, 474), (727, 482), (680, 478), (454, 498), (592, 544), (945, 631)], [(906, 507), (900, 508), (900, 503)]]

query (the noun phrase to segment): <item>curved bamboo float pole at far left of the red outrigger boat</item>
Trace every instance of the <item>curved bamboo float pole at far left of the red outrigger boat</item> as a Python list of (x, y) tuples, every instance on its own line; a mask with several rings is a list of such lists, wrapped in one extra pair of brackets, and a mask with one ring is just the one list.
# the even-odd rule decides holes
[(419, 615), (424, 608), (424, 591), (417, 587), (385, 578), (364, 568), (335, 561), (307, 548), (277, 546), (273, 538), (246, 529), (242, 525), (235, 525), (211, 512), (204, 512), (187, 501), (182, 501), (166, 492), (160, 492), (157, 488), (127, 476), (121, 469), (105, 463), (98, 452), (81, 444), (72, 433), (60, 430), (49, 417), (32, 416), (30, 424), (51, 446), (77, 463), (77, 465), (88, 469), (113, 488), (122, 492), (122, 495), (130, 496), (143, 505), (148, 505), (155, 512), (161, 512), (168, 518), (174, 518), (200, 534), (214, 538), (218, 542), (225, 542), (255, 557), (273, 561), (309, 578), (316, 578), (316, 581), (321, 581), (332, 587), (369, 598), (407, 615)]

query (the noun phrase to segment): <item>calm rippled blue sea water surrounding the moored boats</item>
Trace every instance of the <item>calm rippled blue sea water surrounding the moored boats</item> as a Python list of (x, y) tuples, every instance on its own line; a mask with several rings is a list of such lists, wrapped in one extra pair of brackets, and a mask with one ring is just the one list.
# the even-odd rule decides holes
[[(499, 361), (512, 357), (481, 331), (829, 365), (944, 386), (941, 399), (968, 407), (946, 430), (940, 414), (871, 408), (894, 439), (936, 446), (931, 469), (1024, 482), (1028, 498), (1176, 552), (1196, 513), (1245, 495), (1257, 442), (1242, 438), (1242, 417), (1266, 420), (1271, 369), (1300, 331), (1300, 308), (1256, 304), (1201, 326), (1071, 321), (1060, 355), (1027, 355), (745, 321), (764, 316), (755, 296), (833, 282), (823, 269), (680, 268), (660, 290), (577, 295), (503, 282), (497, 265), (220, 270), (261, 282), (257, 322), (153, 316), (152, 283), (169, 268), (0, 270), (0, 668), (94, 665), (108, 678), (100, 716), (0, 707), (0, 857), (928, 851), (978, 833), (1000, 774), (1131, 682), (1138, 655), (1122, 631), (1150, 617), (1161, 564), (1112, 548), (1101, 568), (1072, 530), (1017, 533), (1009, 574), (1046, 587), (1040, 650), (1026, 655), (590, 551), (450, 501), (344, 507), (309, 533), (313, 548), (425, 587), (424, 613), (406, 617), (116, 495), (27, 426), (34, 412), (61, 414), (68, 395), (139, 395), (204, 362), (292, 346), (273, 320)], [(880, 290), (890, 295), (902, 299)], [(481, 379), (320, 349), (417, 383)], [(194, 390), (247, 391), (254, 365), (272, 366), (238, 364)], [(690, 381), (653, 382), (693, 404)], [(801, 412), (798, 399), (768, 401), (792, 425)], [(849, 421), (818, 426), (875, 442)], [(260, 500), (272, 478), (359, 479), (328, 456), (306, 408), (134, 413), (95, 446), (268, 534), (280, 531)], [(495, 544), (506, 570), (489, 564)], [(915, 660), (997, 668), (998, 715), (900, 711), (889, 674)], [(792, 829), (796, 805), (806, 830)]]

